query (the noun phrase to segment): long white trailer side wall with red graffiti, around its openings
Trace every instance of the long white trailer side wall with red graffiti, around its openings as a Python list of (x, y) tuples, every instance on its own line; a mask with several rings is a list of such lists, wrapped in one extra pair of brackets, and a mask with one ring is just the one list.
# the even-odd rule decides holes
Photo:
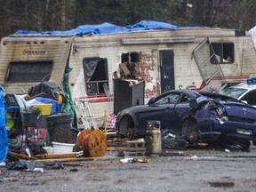
[[(159, 94), (159, 52), (172, 50), (174, 52), (174, 79), (175, 88), (180, 85), (186, 88), (194, 84), (199, 87), (203, 78), (192, 57), (192, 52), (205, 37), (209, 36), (210, 42), (235, 44), (235, 60), (232, 64), (221, 64), (228, 82), (243, 81), (254, 76), (256, 68), (251, 60), (255, 60), (251, 37), (235, 36), (235, 31), (220, 28), (186, 28), (177, 30), (141, 31), (123, 34), (76, 36), (70, 55), (69, 66), (73, 70), (69, 74), (69, 83), (72, 83), (72, 97), (85, 97), (84, 72), (82, 60), (84, 58), (107, 58), (109, 95), (105, 100), (95, 102), (92, 100), (92, 110), (96, 119), (103, 123), (104, 111), (113, 112), (113, 74), (119, 71), (121, 55), (126, 52), (140, 54), (141, 76), (146, 82), (146, 101)], [(183, 40), (182, 40), (183, 39)], [(208, 52), (207, 52), (208, 53)], [(249, 63), (248, 63), (249, 61)], [(248, 65), (248, 68), (245, 66)]]

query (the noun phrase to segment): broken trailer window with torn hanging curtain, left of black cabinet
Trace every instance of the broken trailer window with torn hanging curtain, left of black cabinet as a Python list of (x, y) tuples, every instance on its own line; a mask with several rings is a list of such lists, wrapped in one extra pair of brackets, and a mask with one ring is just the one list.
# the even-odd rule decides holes
[(108, 94), (107, 59), (84, 58), (83, 68), (87, 95)]

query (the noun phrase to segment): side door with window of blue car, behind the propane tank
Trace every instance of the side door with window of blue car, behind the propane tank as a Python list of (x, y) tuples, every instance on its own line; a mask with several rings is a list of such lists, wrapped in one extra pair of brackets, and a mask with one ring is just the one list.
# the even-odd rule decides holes
[(155, 102), (148, 105), (147, 110), (136, 114), (137, 126), (144, 132), (148, 121), (160, 121), (161, 129), (172, 128), (173, 108), (180, 100), (180, 92), (169, 92), (156, 98)]

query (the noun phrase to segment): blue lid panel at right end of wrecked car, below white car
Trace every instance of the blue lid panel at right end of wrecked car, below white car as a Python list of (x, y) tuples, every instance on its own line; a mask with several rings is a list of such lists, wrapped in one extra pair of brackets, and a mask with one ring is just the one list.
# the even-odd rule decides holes
[(225, 104), (223, 107), (225, 108), (228, 116), (256, 120), (256, 108), (234, 104)]

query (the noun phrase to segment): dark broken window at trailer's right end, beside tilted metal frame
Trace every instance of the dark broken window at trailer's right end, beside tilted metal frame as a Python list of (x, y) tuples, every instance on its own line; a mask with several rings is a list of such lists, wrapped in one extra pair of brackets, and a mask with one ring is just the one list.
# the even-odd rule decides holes
[(212, 64), (234, 62), (235, 48), (233, 43), (212, 43), (212, 49), (215, 52), (215, 57), (211, 59)]

